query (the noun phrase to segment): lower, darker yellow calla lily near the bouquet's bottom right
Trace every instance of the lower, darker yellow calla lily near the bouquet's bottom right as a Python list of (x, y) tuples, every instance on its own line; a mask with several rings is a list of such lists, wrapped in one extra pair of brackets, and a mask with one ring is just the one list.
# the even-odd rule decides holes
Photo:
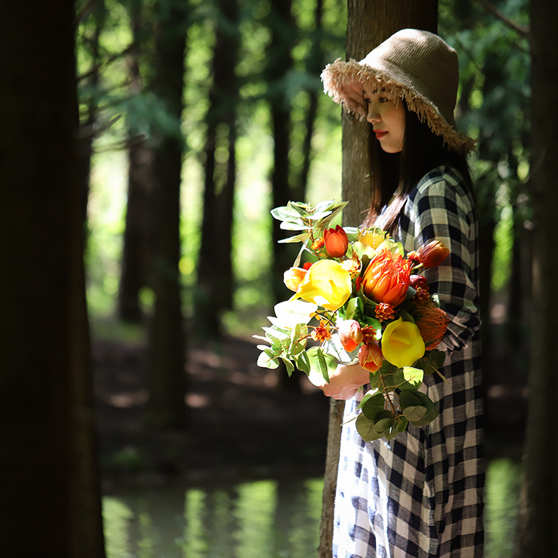
[(382, 335), (382, 353), (398, 368), (412, 366), (424, 354), (424, 340), (416, 324), (401, 318), (388, 324)]

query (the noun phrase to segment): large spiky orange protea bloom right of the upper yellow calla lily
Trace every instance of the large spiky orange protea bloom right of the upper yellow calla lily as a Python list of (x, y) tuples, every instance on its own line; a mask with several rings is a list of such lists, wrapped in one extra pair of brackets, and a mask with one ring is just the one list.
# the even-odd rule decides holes
[(398, 306), (405, 300), (409, 289), (411, 265), (412, 262), (389, 250), (379, 251), (364, 272), (364, 294), (375, 302)]

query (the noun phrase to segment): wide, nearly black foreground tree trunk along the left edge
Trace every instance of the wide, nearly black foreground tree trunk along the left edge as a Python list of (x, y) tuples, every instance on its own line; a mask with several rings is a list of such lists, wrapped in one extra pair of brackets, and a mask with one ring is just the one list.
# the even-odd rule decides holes
[(2, 4), (1, 554), (102, 558), (74, 5)]

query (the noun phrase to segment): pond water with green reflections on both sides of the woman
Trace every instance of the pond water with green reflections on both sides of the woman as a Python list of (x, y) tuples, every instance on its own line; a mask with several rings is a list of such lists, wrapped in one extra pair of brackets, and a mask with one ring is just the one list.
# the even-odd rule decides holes
[[(485, 558), (511, 556), (519, 486), (517, 462), (488, 464)], [(321, 509), (320, 478), (105, 495), (107, 558), (312, 558)]]

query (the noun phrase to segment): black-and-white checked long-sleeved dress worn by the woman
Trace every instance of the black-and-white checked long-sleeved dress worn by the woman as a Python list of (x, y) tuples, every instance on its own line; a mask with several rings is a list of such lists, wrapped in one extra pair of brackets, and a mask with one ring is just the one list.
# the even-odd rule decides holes
[[(334, 558), (482, 558), (483, 428), (474, 202), (458, 172), (426, 174), (402, 209), (395, 239), (406, 251), (432, 239), (450, 249), (425, 270), (451, 322), (444, 368), (421, 390), (439, 416), (390, 442), (363, 442), (356, 398), (347, 401), (335, 495)], [(358, 395), (356, 396), (358, 398)], [(349, 422), (347, 422), (349, 421)]]

